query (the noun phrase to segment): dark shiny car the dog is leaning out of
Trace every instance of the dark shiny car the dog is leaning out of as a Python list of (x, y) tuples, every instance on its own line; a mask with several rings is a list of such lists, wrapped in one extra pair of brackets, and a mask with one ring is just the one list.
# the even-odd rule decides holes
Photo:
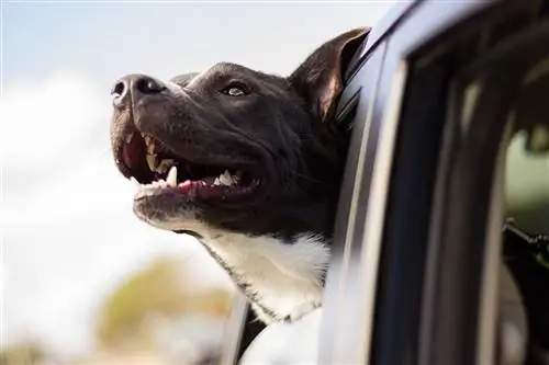
[[(508, 247), (540, 264), (516, 305), (549, 332), (548, 59), (549, 1), (401, 2), (373, 27), (339, 101), (352, 142), (312, 363), (514, 363)], [(223, 364), (257, 340), (253, 319), (239, 297)], [(549, 364), (549, 343), (534, 358), (520, 341)]]

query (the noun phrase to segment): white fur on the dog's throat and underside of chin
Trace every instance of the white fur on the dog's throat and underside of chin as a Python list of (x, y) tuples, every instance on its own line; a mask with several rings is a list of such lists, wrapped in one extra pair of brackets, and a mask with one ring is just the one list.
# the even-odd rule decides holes
[(200, 236), (200, 242), (266, 323), (299, 320), (322, 304), (329, 249), (326, 238), (321, 235), (303, 232), (285, 242), (270, 236), (220, 230), (191, 217), (184, 221), (149, 217), (147, 223), (161, 229), (192, 231)]

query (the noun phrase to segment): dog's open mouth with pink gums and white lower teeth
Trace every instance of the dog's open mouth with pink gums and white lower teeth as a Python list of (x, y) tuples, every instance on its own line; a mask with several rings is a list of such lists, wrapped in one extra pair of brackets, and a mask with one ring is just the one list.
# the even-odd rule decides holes
[(136, 199), (170, 193), (208, 202), (235, 201), (248, 197), (260, 184), (236, 167), (195, 163), (148, 134), (128, 135), (121, 152), (137, 186)]

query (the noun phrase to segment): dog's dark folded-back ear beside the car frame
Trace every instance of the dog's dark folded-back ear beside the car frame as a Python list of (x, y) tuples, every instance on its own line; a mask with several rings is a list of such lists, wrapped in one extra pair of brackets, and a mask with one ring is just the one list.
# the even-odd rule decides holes
[(345, 71), (369, 32), (355, 28), (326, 42), (288, 78), (323, 123), (334, 117)]

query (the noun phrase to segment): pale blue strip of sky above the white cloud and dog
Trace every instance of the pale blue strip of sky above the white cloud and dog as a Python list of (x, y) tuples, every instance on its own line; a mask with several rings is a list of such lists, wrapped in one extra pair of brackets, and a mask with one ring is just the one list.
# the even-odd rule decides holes
[(8, 85), (76, 69), (100, 82), (128, 69), (171, 76), (231, 59), (289, 72), (327, 37), (371, 24), (363, 4), (4, 4)]

